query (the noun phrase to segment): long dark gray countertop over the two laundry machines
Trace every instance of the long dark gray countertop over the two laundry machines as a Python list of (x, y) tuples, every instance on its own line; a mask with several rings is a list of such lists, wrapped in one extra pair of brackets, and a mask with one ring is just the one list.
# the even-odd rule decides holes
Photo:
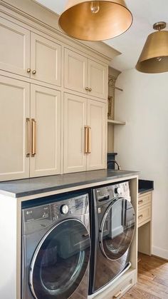
[[(58, 176), (43, 176), (40, 178), (26, 178), (17, 181), (0, 183), (0, 193), (15, 198), (31, 196), (38, 193), (58, 191), (65, 188), (85, 186), (88, 184), (112, 181), (116, 178), (137, 176), (137, 171), (115, 171), (103, 169), (100, 171), (85, 171), (68, 173)], [(84, 187), (85, 188), (85, 187)]]

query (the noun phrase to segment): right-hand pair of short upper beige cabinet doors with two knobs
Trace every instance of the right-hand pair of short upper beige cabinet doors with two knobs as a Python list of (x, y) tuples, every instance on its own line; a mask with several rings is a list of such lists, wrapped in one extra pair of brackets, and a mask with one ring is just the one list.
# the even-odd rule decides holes
[(65, 49), (64, 73), (65, 88), (107, 98), (107, 66)]

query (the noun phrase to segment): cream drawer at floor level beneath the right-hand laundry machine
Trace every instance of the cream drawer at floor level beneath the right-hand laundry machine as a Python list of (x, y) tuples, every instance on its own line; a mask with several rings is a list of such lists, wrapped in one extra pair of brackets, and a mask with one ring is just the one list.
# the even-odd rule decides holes
[[(122, 278), (121, 278), (122, 279)], [(130, 273), (125, 279), (123, 279), (117, 286), (113, 288), (107, 288), (102, 293), (95, 296), (95, 299), (119, 299), (135, 285), (135, 274)]]

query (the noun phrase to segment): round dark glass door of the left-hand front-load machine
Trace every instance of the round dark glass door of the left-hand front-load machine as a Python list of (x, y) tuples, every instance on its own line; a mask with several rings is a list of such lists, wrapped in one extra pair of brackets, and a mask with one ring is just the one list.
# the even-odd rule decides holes
[(33, 296), (69, 298), (83, 279), (89, 258), (90, 237), (83, 223), (68, 219), (55, 225), (38, 244), (31, 261)]

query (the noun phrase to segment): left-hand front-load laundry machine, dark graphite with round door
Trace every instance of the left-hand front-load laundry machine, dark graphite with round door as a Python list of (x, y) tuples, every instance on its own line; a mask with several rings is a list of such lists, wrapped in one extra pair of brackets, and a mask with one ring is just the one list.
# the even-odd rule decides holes
[(88, 194), (38, 199), (22, 208), (22, 299), (88, 296)]

